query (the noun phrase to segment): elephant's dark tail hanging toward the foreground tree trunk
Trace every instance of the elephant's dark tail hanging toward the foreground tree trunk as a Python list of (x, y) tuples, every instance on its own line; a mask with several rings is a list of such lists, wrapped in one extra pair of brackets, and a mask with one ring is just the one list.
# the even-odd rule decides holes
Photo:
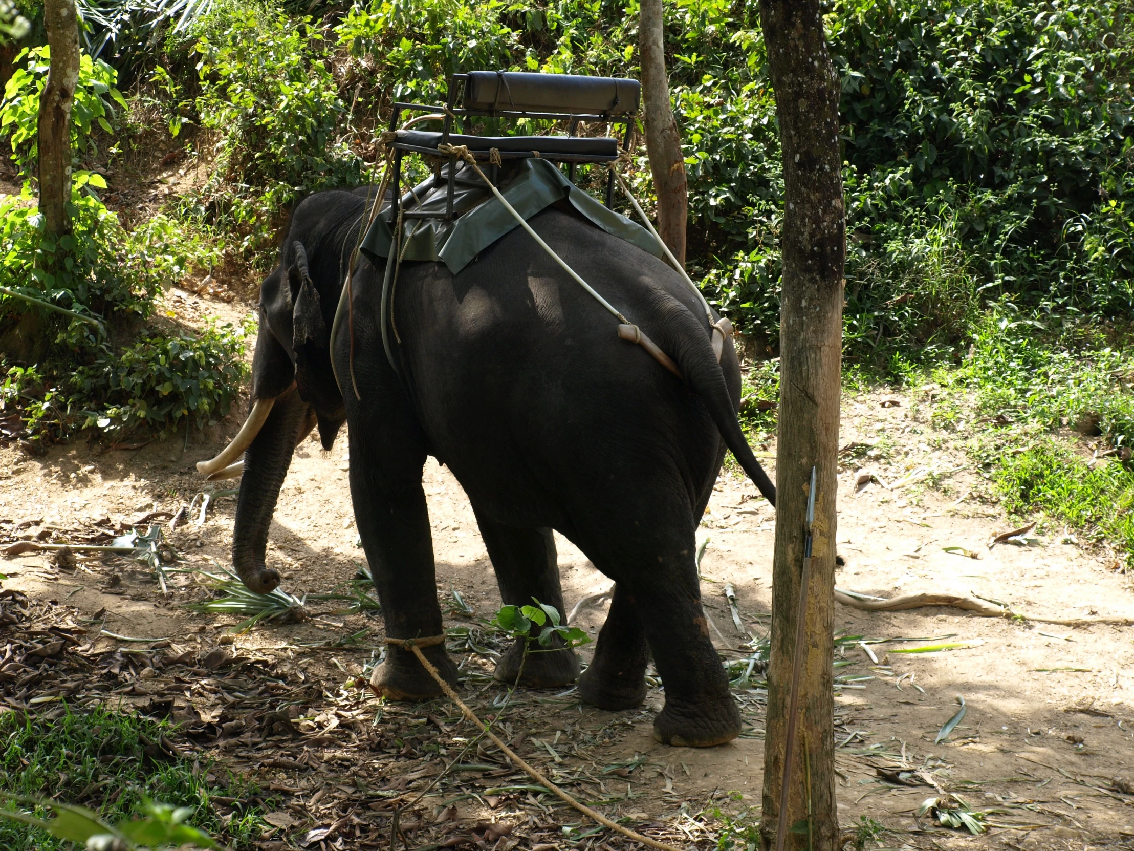
[(728, 386), (725, 384), (725, 372), (712, 349), (708, 329), (676, 298), (666, 295), (662, 296), (662, 301), (663, 304), (659, 306), (668, 315), (660, 325), (660, 329), (663, 330), (658, 342), (676, 361), (689, 389), (700, 396), (709, 408), (709, 415), (717, 423), (725, 445), (739, 462), (741, 467), (775, 507), (776, 486), (744, 438), (733, 399), (728, 395)]

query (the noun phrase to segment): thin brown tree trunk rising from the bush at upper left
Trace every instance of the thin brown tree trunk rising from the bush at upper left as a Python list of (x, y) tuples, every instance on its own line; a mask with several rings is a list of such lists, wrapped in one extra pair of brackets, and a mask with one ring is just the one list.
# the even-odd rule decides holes
[(40, 95), (40, 212), (48, 236), (70, 231), (70, 110), (78, 84), (78, 15), (75, 0), (45, 0), (43, 22), (51, 48), (51, 69)]

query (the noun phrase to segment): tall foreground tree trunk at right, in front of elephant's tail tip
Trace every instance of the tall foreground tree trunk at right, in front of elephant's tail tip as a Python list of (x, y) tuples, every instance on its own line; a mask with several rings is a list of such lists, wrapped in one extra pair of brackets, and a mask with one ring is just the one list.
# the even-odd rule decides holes
[[(775, 848), (795, 652), (804, 519), (816, 467), (803, 666), (785, 848), (835, 851), (833, 609), (836, 460), (843, 343), (845, 218), (839, 79), (818, 0), (760, 0), (784, 157), (780, 405), (776, 458), (771, 665), (761, 821)], [(810, 833), (810, 837), (809, 837)]]

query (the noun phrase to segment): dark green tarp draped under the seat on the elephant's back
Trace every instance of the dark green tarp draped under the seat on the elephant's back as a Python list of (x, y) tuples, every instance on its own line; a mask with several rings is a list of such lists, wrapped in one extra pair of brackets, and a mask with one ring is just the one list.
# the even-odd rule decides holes
[[(497, 239), (519, 227), (489, 187), (468, 165), (460, 162), (455, 176), (452, 219), (445, 216), (448, 194), (448, 166), (440, 179), (429, 178), (407, 192), (401, 203), (407, 210), (431, 212), (439, 218), (404, 219), (403, 260), (445, 263), (454, 275), (464, 269), (479, 253)], [(612, 236), (637, 245), (660, 258), (661, 248), (650, 233), (591, 195), (574, 186), (548, 160), (530, 158), (519, 160), (518, 170), (500, 191), (516, 212), (525, 220), (557, 201), (567, 201), (584, 218)], [(362, 242), (362, 251), (378, 263), (390, 254), (389, 205), (374, 219)]]

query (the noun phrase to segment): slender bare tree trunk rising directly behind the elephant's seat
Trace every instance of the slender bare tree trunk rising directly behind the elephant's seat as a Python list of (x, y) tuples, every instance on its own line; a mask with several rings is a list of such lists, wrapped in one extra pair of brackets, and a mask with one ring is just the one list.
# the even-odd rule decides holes
[(685, 226), (688, 185), (682, 134), (669, 106), (666, 76), (666, 39), (661, 0), (642, 0), (638, 49), (642, 52), (642, 100), (645, 109), (645, 146), (650, 154), (653, 188), (658, 194), (658, 234), (677, 262), (685, 266)]

